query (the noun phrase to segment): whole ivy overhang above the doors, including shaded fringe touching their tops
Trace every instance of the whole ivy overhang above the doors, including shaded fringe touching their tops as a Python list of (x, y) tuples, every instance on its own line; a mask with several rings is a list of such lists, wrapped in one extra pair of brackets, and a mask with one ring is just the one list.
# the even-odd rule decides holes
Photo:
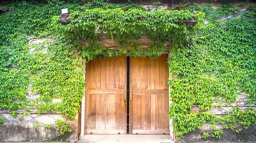
[[(108, 6), (110, 4), (102, 3), (99, 3), (99, 8), (74, 10), (69, 16), (71, 22), (67, 25), (61, 25), (58, 16), (53, 17), (55, 29), (63, 36), (68, 35), (77, 43), (80, 40), (89, 42), (88, 47), (78, 44), (79, 55), (89, 60), (99, 55), (104, 57), (116, 55), (159, 57), (165, 50), (163, 44), (167, 41), (182, 43), (187, 40), (188, 32), (186, 24), (183, 23), (184, 20), (198, 20), (198, 26), (203, 24), (204, 14), (201, 12), (193, 14), (189, 10), (162, 9), (151, 12), (140, 5), (130, 8), (130, 5), (135, 6), (132, 3), (125, 5), (125, 8), (110, 7)], [(97, 32), (99, 30), (100, 33)], [(118, 41), (121, 50), (106, 50), (102, 47), (98, 43), (98, 36), (103, 33), (109, 39)], [(140, 39), (141, 36), (146, 36), (155, 43), (151, 44), (147, 50), (144, 50), (141, 45), (130, 44)], [(129, 44), (128, 50), (122, 49)]]

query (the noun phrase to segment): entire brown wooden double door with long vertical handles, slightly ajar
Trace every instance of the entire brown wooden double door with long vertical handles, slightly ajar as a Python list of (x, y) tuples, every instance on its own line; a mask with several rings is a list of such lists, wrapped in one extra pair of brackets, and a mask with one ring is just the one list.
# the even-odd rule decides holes
[(85, 134), (127, 134), (128, 110), (129, 134), (169, 134), (167, 58), (131, 57), (128, 84), (126, 57), (89, 61)]

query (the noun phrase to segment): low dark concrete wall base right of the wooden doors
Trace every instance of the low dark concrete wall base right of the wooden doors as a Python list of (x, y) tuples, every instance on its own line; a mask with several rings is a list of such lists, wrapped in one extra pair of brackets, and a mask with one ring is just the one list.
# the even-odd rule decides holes
[[(181, 140), (175, 140), (179, 143), (193, 143), (193, 142), (256, 142), (256, 126), (249, 127), (249, 129), (243, 129), (240, 133), (236, 133), (235, 130), (223, 129), (221, 138), (208, 137), (206, 140), (202, 138), (201, 132), (207, 132), (207, 130), (197, 129), (186, 135)], [(211, 131), (212, 130), (208, 130)]]

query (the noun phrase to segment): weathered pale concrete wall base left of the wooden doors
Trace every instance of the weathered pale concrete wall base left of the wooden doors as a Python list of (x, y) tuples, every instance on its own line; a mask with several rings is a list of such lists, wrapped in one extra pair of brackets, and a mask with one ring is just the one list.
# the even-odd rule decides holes
[[(0, 115), (5, 116), (7, 121), (3, 123), (3, 126), (0, 126), (0, 141), (78, 141), (76, 134), (77, 122), (74, 120), (65, 120), (60, 114), (18, 114), (13, 118), (11, 114), (3, 112), (0, 112)], [(56, 119), (69, 123), (70, 128), (74, 132), (61, 135), (60, 131), (55, 127)], [(51, 127), (43, 127), (45, 124)]]

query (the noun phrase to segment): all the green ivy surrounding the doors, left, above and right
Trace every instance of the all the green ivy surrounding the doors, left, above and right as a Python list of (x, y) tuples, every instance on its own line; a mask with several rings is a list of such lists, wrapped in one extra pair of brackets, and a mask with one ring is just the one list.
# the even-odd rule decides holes
[[(15, 2), (6, 5), (9, 11), (0, 15), (1, 109), (11, 110), (13, 116), (19, 109), (27, 112), (36, 109), (38, 114), (66, 113), (66, 117), (74, 119), (84, 96), (82, 62), (97, 56), (148, 55), (155, 58), (163, 52), (163, 44), (172, 40), (168, 63), (173, 77), (168, 83), (173, 103), (169, 116), (175, 119), (175, 134), (182, 137), (204, 123), (211, 123), (212, 129), (217, 123), (230, 123), (224, 128), (231, 129), (235, 123), (245, 128), (255, 125), (254, 109), (244, 111), (234, 107), (229, 115), (221, 117), (207, 112), (222, 106), (218, 102), (233, 103), (240, 92), (250, 97), (249, 104), (255, 101), (255, 6), (245, 13), (233, 5), (223, 5), (217, 10), (211, 5), (194, 5), (180, 11), (150, 12), (134, 3), (47, 2)], [(70, 11), (71, 22), (67, 25), (61, 25), (59, 20), (63, 7), (69, 7)], [(193, 8), (197, 9), (194, 14), (191, 13)], [(225, 21), (218, 19), (230, 11), (234, 17)], [(204, 25), (202, 12), (208, 20)], [(198, 24), (190, 29), (183, 20), (198, 20)], [(102, 32), (97, 33), (98, 29)], [(98, 36), (103, 32), (108, 38), (119, 41), (121, 49), (102, 47)], [(154, 41), (147, 50), (132, 44), (141, 35)], [(52, 38), (43, 45), (29, 42), (43, 37)], [(81, 46), (81, 41), (87, 41), (88, 46)], [(122, 49), (128, 44), (128, 49)], [(28, 98), (34, 93), (39, 93), (38, 98)], [(213, 104), (220, 95), (217, 104)], [(53, 98), (62, 101), (53, 103)], [(202, 111), (193, 112), (193, 105)], [(65, 122), (57, 120), (56, 124), (61, 132), (70, 131)], [(211, 136), (220, 137), (222, 133), (214, 130)], [(203, 133), (204, 138), (208, 136)]]

